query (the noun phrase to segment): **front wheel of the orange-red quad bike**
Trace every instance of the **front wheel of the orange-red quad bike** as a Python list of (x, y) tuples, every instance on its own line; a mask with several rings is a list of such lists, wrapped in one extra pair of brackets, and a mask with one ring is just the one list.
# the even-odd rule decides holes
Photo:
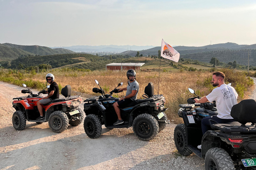
[(26, 117), (22, 111), (16, 111), (12, 115), (12, 124), (14, 129), (21, 131), (25, 129)]

